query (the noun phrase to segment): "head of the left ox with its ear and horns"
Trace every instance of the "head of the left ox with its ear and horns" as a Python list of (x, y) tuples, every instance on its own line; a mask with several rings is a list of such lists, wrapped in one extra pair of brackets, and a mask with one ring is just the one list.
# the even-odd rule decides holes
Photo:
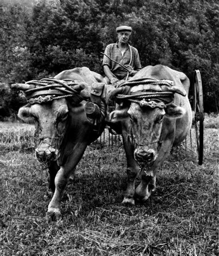
[[(14, 84), (12, 87), (24, 90), (28, 98), (27, 90), (31, 91), (31, 85)], [(84, 89), (84, 85), (79, 84), (75, 86), (74, 89), (80, 92)], [(38, 91), (35, 93), (37, 94)], [(53, 93), (55, 93), (55, 90), (53, 90)], [(73, 102), (73, 100), (70, 100), (71, 98), (67, 100), (58, 95), (58, 97), (55, 97), (53, 100), (44, 101), (46, 97), (48, 99), (49, 95), (42, 95), (29, 97), (31, 104), (28, 103), (20, 108), (18, 117), (24, 122), (35, 123), (35, 155), (37, 160), (49, 166), (49, 164), (55, 161), (60, 155), (61, 143), (69, 120), (69, 109), (72, 107), (72, 104), (78, 104), (81, 98), (79, 95), (75, 95), (76, 101)], [(57, 95), (51, 95), (51, 97), (52, 96)]]

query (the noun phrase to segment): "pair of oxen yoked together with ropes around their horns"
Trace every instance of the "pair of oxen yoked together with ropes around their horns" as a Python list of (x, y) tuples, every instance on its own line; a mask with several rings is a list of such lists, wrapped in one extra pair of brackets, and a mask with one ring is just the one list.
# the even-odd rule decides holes
[[(47, 83), (53, 79), (13, 85), (26, 94), (29, 103), (18, 116), (24, 122), (34, 120), (36, 158), (49, 169), (54, 194), (47, 217), (61, 217), (61, 196), (69, 177), (106, 124), (122, 134), (126, 152), (128, 180), (122, 203), (147, 200), (156, 188), (158, 168), (191, 128), (188, 77), (156, 65), (117, 87), (105, 84), (102, 76), (85, 67), (65, 70), (54, 79), (60, 82), (55, 90)], [(65, 90), (70, 96), (65, 96)], [(111, 100), (118, 104), (107, 116)], [(139, 171), (141, 182), (135, 188)]]

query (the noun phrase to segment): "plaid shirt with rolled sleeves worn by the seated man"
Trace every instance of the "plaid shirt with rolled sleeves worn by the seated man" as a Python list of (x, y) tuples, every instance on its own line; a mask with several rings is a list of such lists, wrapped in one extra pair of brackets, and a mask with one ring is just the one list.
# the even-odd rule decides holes
[[(119, 49), (118, 42), (115, 44), (107, 45), (104, 53), (111, 59), (116, 60), (118, 63), (122, 64), (123, 66), (130, 65), (134, 70), (137, 71), (141, 69), (138, 50), (129, 44), (123, 56), (121, 50)], [(111, 61), (105, 55), (103, 56), (103, 66), (104, 65), (109, 66), (111, 72), (118, 78), (122, 79), (127, 75), (127, 70), (123, 69), (116, 62)]]

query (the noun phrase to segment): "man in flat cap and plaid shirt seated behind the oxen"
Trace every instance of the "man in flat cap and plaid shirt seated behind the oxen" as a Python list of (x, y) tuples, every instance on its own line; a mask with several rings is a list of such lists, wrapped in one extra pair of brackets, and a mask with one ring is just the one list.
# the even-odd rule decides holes
[[(128, 77), (133, 77), (140, 69), (140, 58), (136, 48), (128, 44), (132, 28), (130, 26), (119, 26), (116, 28), (118, 41), (115, 44), (106, 46), (103, 57), (103, 71), (106, 75), (108, 83), (116, 83), (119, 80), (126, 79), (128, 70)], [(122, 68), (125, 66), (127, 69)]]

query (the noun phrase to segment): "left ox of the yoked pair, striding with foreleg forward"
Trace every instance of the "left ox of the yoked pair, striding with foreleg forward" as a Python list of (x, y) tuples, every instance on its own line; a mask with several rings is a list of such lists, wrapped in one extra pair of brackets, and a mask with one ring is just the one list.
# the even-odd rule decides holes
[[(46, 162), (50, 176), (49, 188), (54, 192), (48, 206), (47, 217), (57, 219), (61, 216), (61, 195), (70, 175), (74, 174), (86, 146), (96, 140), (104, 129), (106, 108), (102, 103), (104, 113), (99, 117), (98, 124), (94, 124), (87, 118), (85, 102), (82, 101), (90, 97), (90, 94), (86, 94), (85, 87), (89, 88), (95, 82), (105, 83), (101, 75), (83, 67), (62, 71), (54, 78), (77, 80), (73, 88), (78, 91), (78, 95), (73, 98), (58, 97), (55, 100), (40, 103), (33, 98), (31, 104), (28, 103), (19, 109), (18, 116), (24, 122), (31, 120), (35, 122), (36, 158), (40, 162)], [(15, 84), (14, 87), (31, 91), (27, 83)]]

